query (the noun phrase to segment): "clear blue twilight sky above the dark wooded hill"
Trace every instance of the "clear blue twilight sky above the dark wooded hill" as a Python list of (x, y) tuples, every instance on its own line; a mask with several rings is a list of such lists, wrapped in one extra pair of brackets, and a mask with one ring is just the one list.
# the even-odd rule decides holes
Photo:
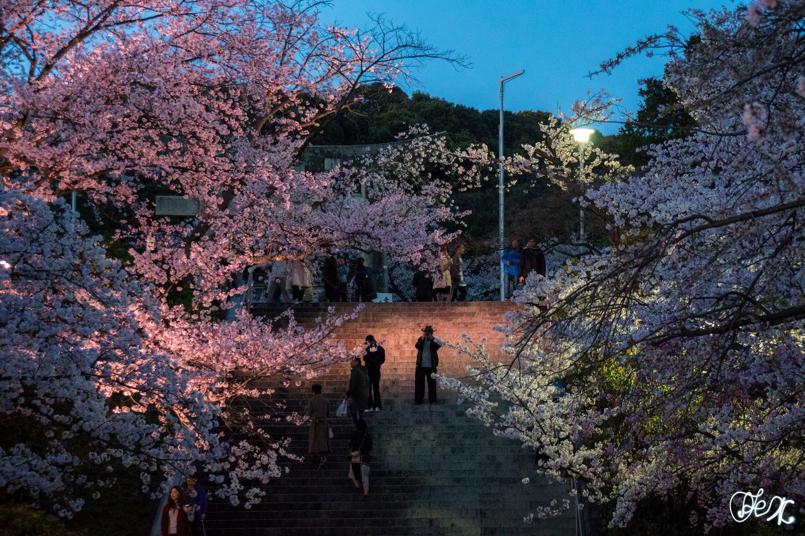
[[(588, 72), (669, 24), (689, 32), (692, 24), (681, 11), (722, 4), (736, 5), (733, 0), (334, 0), (321, 19), (364, 27), (368, 11), (383, 13), (473, 63), (456, 70), (431, 61), (415, 72), (421, 85), (403, 85), (408, 93), (418, 89), (478, 109), (497, 109), (500, 76), (525, 69), (506, 84), (506, 109), (568, 109), (588, 89), (603, 88), (623, 97), (622, 104), (634, 111), (640, 102), (638, 80), (662, 75), (662, 56), (632, 58), (609, 76), (590, 79)], [(599, 128), (611, 134), (618, 126)]]

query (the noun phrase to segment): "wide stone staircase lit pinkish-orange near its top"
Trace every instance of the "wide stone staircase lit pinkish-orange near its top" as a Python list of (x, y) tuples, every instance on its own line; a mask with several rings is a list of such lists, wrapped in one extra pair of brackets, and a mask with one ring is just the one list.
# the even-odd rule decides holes
[[(336, 304), (336, 312), (355, 304)], [(327, 304), (295, 306), (300, 324), (311, 324)], [(459, 340), (461, 332), (474, 339), (487, 336), (487, 348), (497, 348), (502, 335), (491, 331), (503, 321), (510, 303), (369, 303), (361, 315), (337, 332), (347, 348), (372, 334), (386, 348), (381, 392), (383, 410), (366, 414), (374, 438), (369, 501), (353, 488), (347, 472), (350, 418), (332, 418), (332, 454), (324, 468), (310, 461), (288, 462), (290, 472), (266, 486), (262, 503), (246, 510), (221, 501), (210, 503), (208, 534), (231, 536), (571, 536), (572, 513), (526, 524), (523, 517), (538, 506), (568, 497), (567, 484), (547, 484), (537, 475), (534, 452), (495, 437), (489, 428), (468, 418), (456, 394), (440, 390), (439, 403), (414, 406), (414, 343), (425, 324), (436, 336)], [(280, 304), (253, 309), (271, 318), (284, 311)], [(466, 376), (466, 357), (449, 348), (440, 350), (442, 374)], [(349, 364), (339, 363), (316, 383), (331, 402), (331, 413), (349, 381)], [(283, 378), (266, 381), (287, 400), (288, 410), (303, 410), (310, 384), (290, 385)], [(284, 427), (291, 451), (305, 455), (308, 427)], [(530, 484), (522, 478), (530, 477)]]

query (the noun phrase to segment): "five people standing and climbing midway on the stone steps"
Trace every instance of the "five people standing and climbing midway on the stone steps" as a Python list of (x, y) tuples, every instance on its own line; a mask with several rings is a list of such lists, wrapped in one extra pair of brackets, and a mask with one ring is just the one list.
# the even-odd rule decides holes
[[(432, 377), (439, 366), (439, 348), (442, 343), (434, 336), (434, 328), (425, 326), (422, 336), (415, 343), (416, 369), (414, 380), (414, 403), (422, 404), (427, 381), (427, 400), (436, 404), (436, 380)], [(386, 350), (378, 344), (374, 336), (367, 335), (361, 357), (354, 356), (350, 361), (349, 387), (345, 399), (349, 400), (349, 414), (352, 416), (355, 429), (349, 439), (349, 479), (356, 489), (363, 490), (363, 500), (369, 500), (369, 456), (373, 443), (369, 434), (369, 426), (364, 415), (367, 412), (382, 410), (380, 396), (381, 367), (386, 362)], [(321, 394), (320, 384), (311, 387), (312, 396), (308, 398), (307, 414), (310, 428), (308, 431), (308, 453), (312, 456), (316, 468), (324, 467), (330, 453), (332, 431), (329, 425), (329, 402)]]

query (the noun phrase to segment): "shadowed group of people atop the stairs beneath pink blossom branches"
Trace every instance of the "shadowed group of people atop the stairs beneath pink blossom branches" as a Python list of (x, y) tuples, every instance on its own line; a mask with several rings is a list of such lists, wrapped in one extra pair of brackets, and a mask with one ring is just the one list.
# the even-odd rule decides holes
[[(313, 301), (314, 270), (311, 262), (304, 258), (278, 258), (266, 262), (258, 268), (266, 270), (258, 279), (266, 282), (265, 299), (277, 303), (282, 297), (284, 303)], [(322, 265), (321, 278), (324, 282), (324, 298), (328, 302), (348, 302), (349, 283), (353, 285), (353, 301), (369, 302), (377, 298), (377, 292), (369, 276), (382, 274), (387, 270), (365, 266), (363, 258), (357, 258), (347, 266), (344, 258), (327, 254)], [(260, 281), (258, 281), (260, 282)]]

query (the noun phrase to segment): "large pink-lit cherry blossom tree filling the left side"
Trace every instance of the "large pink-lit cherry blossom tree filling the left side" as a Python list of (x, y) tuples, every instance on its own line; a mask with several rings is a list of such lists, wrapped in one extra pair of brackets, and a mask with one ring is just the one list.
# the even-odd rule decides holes
[[(0, 442), (6, 491), (68, 515), (119, 467), (153, 489), (151, 475), (200, 465), (221, 497), (259, 501), (247, 482), (279, 476), (291, 455), (264, 428), (284, 416), (258, 381), (345, 358), (331, 338), (345, 317), (308, 330), (247, 312), (217, 322), (243, 290), (233, 274), (337, 249), (432, 262), (454, 237), (440, 224), (461, 215), (445, 200), (489, 167), (483, 147), (412, 133), (373, 165), (297, 169), (361, 85), (391, 87), (428, 58), (462, 62), (382, 19), (328, 26), (318, 6), (0, 2), (0, 407), (21, 432)], [(433, 169), (452, 179), (429, 180)], [(70, 192), (114, 236), (92, 237)], [(196, 216), (156, 216), (158, 193), (192, 198)], [(127, 249), (123, 264), (110, 245)]]

